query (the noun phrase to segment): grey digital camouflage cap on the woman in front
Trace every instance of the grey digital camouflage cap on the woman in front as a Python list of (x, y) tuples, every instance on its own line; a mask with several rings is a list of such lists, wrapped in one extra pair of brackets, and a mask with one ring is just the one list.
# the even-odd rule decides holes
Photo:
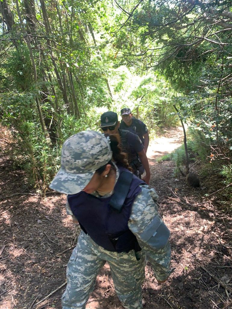
[(61, 168), (49, 188), (65, 194), (78, 193), (111, 158), (110, 143), (104, 134), (82, 131), (72, 135), (63, 143)]

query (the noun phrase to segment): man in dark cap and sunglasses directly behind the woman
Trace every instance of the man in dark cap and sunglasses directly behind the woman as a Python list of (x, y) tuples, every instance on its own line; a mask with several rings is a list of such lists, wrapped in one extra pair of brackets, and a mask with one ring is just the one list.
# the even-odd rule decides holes
[[(142, 173), (139, 172), (142, 167), (145, 169), (146, 175), (143, 180), (149, 184), (150, 180), (150, 167), (147, 155), (144, 151), (144, 145), (139, 136), (129, 132), (128, 130), (119, 129), (120, 122), (118, 115), (115, 112), (105, 112), (101, 115), (101, 129), (104, 133), (118, 134), (121, 140), (122, 150), (127, 153), (129, 165), (132, 167), (136, 176), (140, 177)], [(140, 162), (140, 160), (141, 162)], [(142, 164), (141, 164), (142, 163)]]

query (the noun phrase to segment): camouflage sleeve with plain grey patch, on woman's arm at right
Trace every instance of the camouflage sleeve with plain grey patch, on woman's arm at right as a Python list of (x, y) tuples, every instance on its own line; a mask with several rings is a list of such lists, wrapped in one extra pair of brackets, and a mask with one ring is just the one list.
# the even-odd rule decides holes
[(163, 281), (172, 272), (171, 248), (168, 240), (170, 233), (159, 216), (156, 191), (147, 185), (142, 185), (141, 189), (141, 193), (133, 203), (128, 226), (142, 250), (146, 252), (156, 279)]

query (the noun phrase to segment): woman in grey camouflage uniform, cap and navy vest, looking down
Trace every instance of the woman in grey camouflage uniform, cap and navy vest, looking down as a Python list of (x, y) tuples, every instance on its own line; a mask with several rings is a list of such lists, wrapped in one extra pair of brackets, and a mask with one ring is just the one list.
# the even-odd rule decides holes
[(67, 212), (82, 229), (67, 265), (63, 309), (85, 308), (106, 261), (127, 309), (143, 307), (146, 255), (158, 283), (172, 272), (170, 233), (158, 214), (157, 193), (127, 168), (114, 135), (83, 131), (63, 144), (50, 188), (67, 194)]

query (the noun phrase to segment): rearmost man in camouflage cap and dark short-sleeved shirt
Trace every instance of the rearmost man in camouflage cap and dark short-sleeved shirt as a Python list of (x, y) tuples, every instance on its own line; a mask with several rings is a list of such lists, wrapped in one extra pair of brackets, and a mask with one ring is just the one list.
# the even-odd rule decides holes
[(130, 108), (122, 108), (121, 116), (122, 121), (120, 123), (120, 129), (128, 130), (134, 134), (137, 134), (144, 145), (145, 153), (147, 153), (149, 145), (149, 134), (146, 125), (143, 123), (143, 121), (133, 117)]

